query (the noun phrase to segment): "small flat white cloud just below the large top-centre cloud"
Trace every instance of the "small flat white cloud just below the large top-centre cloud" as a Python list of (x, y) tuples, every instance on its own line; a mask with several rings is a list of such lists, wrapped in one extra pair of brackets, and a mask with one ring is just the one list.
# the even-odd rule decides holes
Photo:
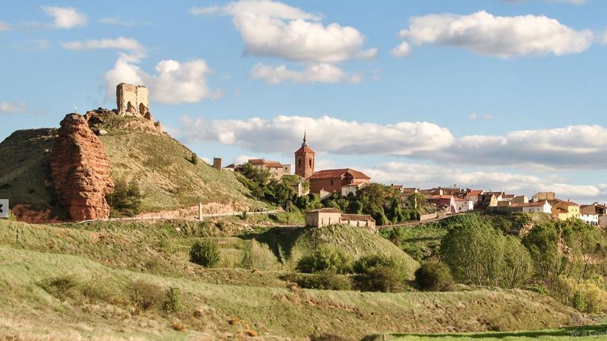
[(295, 83), (359, 83), (362, 76), (348, 74), (338, 66), (327, 63), (311, 63), (303, 70), (289, 70), (285, 65), (272, 67), (261, 63), (251, 70), (253, 79), (263, 79), (268, 84), (279, 84), (287, 81)]

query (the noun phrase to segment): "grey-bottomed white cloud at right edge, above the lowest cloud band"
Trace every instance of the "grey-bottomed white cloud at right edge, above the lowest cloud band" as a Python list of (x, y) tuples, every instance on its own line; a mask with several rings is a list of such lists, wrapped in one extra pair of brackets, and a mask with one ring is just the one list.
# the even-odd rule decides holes
[(521, 130), (506, 135), (470, 135), (415, 158), (470, 165), (530, 165), (555, 169), (607, 167), (607, 128), (572, 125), (546, 130)]

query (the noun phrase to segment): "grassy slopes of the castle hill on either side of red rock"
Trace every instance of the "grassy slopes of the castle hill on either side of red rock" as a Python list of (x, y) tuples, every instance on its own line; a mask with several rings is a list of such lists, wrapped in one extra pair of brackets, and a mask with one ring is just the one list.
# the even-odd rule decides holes
[[(111, 119), (110, 119), (111, 118)], [(192, 151), (167, 134), (137, 129), (137, 119), (111, 114), (94, 124), (110, 158), (110, 176), (117, 180), (137, 180), (141, 187), (143, 211), (172, 210), (202, 203), (222, 203), (258, 207), (248, 198), (248, 190), (231, 172), (220, 172), (200, 161), (190, 163)], [(147, 122), (149, 123), (149, 121)], [(0, 143), (0, 197), (11, 205), (28, 203), (49, 207), (60, 213), (55, 199), (48, 157), (56, 129), (19, 130)]]

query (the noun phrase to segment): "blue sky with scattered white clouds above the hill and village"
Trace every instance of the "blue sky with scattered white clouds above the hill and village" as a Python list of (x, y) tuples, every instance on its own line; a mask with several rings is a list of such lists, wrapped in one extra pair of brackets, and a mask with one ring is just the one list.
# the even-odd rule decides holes
[(290, 163), (308, 130), (317, 165), (384, 183), (605, 201), (606, 13), (599, 0), (4, 1), (0, 138), (114, 108), (130, 81), (205, 158)]

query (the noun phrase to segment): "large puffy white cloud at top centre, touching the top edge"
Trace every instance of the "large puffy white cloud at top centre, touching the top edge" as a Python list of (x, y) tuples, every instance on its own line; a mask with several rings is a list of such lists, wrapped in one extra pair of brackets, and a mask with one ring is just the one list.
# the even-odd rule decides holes
[(355, 28), (323, 25), (317, 14), (276, 1), (242, 0), (221, 8), (192, 8), (192, 13), (230, 15), (246, 44), (246, 54), (255, 56), (337, 63), (377, 54), (377, 49), (361, 50), (364, 37)]

